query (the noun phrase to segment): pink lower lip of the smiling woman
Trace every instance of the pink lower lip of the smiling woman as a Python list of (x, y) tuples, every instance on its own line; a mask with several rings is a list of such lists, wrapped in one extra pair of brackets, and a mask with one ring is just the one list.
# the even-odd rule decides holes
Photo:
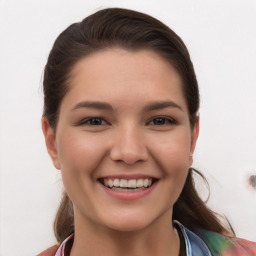
[(114, 197), (119, 200), (137, 200), (140, 198), (144, 198), (148, 196), (156, 187), (157, 181), (155, 181), (152, 186), (146, 189), (142, 189), (139, 191), (118, 191), (111, 188), (108, 188), (100, 183), (100, 185), (103, 187), (105, 192), (110, 195), (111, 197)]

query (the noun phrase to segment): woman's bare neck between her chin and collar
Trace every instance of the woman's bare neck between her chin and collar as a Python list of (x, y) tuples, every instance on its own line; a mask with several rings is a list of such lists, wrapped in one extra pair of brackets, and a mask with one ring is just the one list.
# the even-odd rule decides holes
[(75, 218), (71, 256), (153, 256), (179, 254), (179, 236), (170, 211), (154, 223), (136, 231), (118, 231)]

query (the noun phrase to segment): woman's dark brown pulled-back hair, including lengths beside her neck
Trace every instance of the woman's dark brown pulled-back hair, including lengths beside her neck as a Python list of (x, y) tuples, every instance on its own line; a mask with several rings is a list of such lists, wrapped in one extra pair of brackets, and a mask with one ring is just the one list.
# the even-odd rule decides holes
[[(151, 50), (169, 61), (182, 79), (182, 91), (187, 103), (191, 129), (197, 121), (199, 89), (189, 52), (181, 38), (159, 20), (132, 10), (109, 8), (100, 10), (79, 23), (70, 25), (56, 39), (44, 70), (44, 112), (49, 125), (56, 130), (60, 104), (70, 86), (70, 73), (82, 58), (104, 49), (122, 48), (128, 51)], [(196, 232), (207, 229), (221, 234), (233, 234), (218, 215), (199, 197), (190, 168), (181, 195), (173, 207), (173, 219)], [(206, 181), (206, 180), (205, 180)], [(63, 197), (54, 221), (58, 242), (74, 230), (72, 202)]]

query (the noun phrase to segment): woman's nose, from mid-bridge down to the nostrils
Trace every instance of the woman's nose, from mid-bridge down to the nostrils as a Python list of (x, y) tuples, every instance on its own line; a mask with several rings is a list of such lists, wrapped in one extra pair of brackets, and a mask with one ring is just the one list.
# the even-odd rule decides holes
[(148, 151), (143, 135), (135, 128), (123, 128), (113, 135), (110, 158), (128, 165), (148, 159)]

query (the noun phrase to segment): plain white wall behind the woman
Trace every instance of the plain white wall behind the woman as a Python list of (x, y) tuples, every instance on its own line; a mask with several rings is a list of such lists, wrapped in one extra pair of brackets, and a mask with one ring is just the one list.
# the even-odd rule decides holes
[(209, 180), (209, 205), (238, 236), (256, 241), (256, 1), (0, 0), (0, 255), (35, 255), (55, 243), (61, 177), (40, 127), (41, 78), (57, 35), (103, 7), (165, 22), (186, 43), (201, 90), (194, 166)]

